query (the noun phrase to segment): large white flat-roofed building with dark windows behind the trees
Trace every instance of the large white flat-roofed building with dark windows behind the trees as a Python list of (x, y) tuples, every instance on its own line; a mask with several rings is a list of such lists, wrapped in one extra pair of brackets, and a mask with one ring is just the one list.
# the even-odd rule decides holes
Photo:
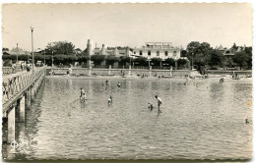
[(146, 46), (133, 49), (133, 56), (150, 58), (173, 58), (177, 60), (180, 58), (181, 49), (172, 47), (171, 42), (146, 42)]

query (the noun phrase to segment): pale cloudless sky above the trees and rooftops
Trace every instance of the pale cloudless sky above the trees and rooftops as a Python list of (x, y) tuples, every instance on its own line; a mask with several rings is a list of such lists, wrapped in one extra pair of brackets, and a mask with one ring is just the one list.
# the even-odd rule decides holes
[(212, 47), (252, 45), (252, 6), (214, 4), (3, 4), (2, 46), (32, 50), (48, 42), (70, 41), (84, 50), (94, 45), (141, 47), (145, 42), (191, 41)]

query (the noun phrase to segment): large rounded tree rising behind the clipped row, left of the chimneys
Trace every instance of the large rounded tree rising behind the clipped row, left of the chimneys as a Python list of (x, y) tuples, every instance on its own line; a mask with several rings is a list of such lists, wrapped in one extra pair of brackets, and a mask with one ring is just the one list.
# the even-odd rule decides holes
[(48, 51), (53, 51), (54, 54), (72, 55), (75, 54), (75, 45), (68, 41), (50, 42), (47, 44)]

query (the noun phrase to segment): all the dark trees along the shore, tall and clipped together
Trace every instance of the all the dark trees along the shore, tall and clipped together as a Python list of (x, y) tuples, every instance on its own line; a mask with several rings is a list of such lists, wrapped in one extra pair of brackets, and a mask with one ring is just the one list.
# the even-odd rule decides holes
[[(119, 47), (121, 48), (121, 47)], [(126, 47), (128, 48), (128, 47)], [(77, 48), (78, 49), (78, 48)], [(43, 61), (45, 55), (45, 63), (51, 65), (52, 55), (54, 59), (54, 64), (69, 65), (74, 62), (87, 63), (89, 61), (89, 55), (87, 49), (80, 50), (77, 53), (75, 45), (68, 41), (56, 41), (47, 44), (43, 53), (35, 54), (34, 60)], [(9, 50), (5, 48), (4, 50)], [(130, 49), (132, 50), (132, 49)], [(251, 69), (252, 68), (252, 47), (239, 47), (234, 43), (231, 48), (229, 48), (233, 56), (224, 56), (224, 51), (218, 48), (214, 49), (208, 42), (198, 42), (191, 41), (186, 49), (181, 50), (181, 57), (187, 57), (190, 61), (190, 66), (196, 69), (202, 68), (226, 68), (237, 66), (240, 69)], [(81, 52), (82, 51), (82, 52)], [(10, 59), (15, 61), (16, 56), (3, 55), (3, 60)], [(30, 56), (31, 59), (31, 56)], [(28, 56), (20, 55), (19, 60), (28, 60)], [(105, 65), (113, 65), (118, 63), (119, 65), (136, 65), (136, 66), (149, 66), (149, 61), (145, 57), (130, 58), (128, 56), (115, 57), (112, 55), (92, 55), (91, 60), (94, 61), (96, 66), (100, 66), (103, 62)], [(168, 58), (162, 61), (160, 58), (152, 58), (150, 64), (153, 66), (177, 66), (185, 67), (187, 65), (187, 60), (179, 59), (174, 61), (172, 58)]]

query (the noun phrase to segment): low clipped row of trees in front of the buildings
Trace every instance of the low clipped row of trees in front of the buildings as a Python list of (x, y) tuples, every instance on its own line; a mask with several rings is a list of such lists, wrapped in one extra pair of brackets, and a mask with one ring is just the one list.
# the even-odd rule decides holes
[[(12, 60), (16, 61), (17, 56), (16, 55), (3, 55), (2, 59), (4, 61), (6, 60)], [(80, 65), (87, 65), (88, 61), (91, 59), (94, 62), (94, 65), (96, 66), (102, 66), (102, 64), (109, 66), (114, 63), (118, 63), (119, 66), (128, 66), (128, 65), (134, 65), (134, 66), (149, 66), (149, 61), (146, 57), (138, 57), (138, 58), (132, 58), (128, 56), (121, 56), (116, 57), (114, 55), (92, 55), (91, 57), (86, 55), (64, 55), (64, 54), (55, 54), (55, 55), (41, 55), (41, 54), (34, 54), (34, 62), (41, 61), (42, 63), (45, 60), (46, 65), (51, 65), (53, 59), (54, 65), (74, 65), (75, 62), (79, 62)], [(31, 55), (19, 55), (18, 56), (19, 61), (31, 61), (32, 56)], [(176, 62), (176, 65), (175, 65)], [(175, 61), (172, 58), (167, 58), (164, 61), (162, 61), (160, 58), (152, 58), (150, 61), (151, 66), (167, 66), (167, 67), (179, 67), (184, 68), (184, 66), (187, 64), (187, 60), (185, 59), (178, 59)]]

